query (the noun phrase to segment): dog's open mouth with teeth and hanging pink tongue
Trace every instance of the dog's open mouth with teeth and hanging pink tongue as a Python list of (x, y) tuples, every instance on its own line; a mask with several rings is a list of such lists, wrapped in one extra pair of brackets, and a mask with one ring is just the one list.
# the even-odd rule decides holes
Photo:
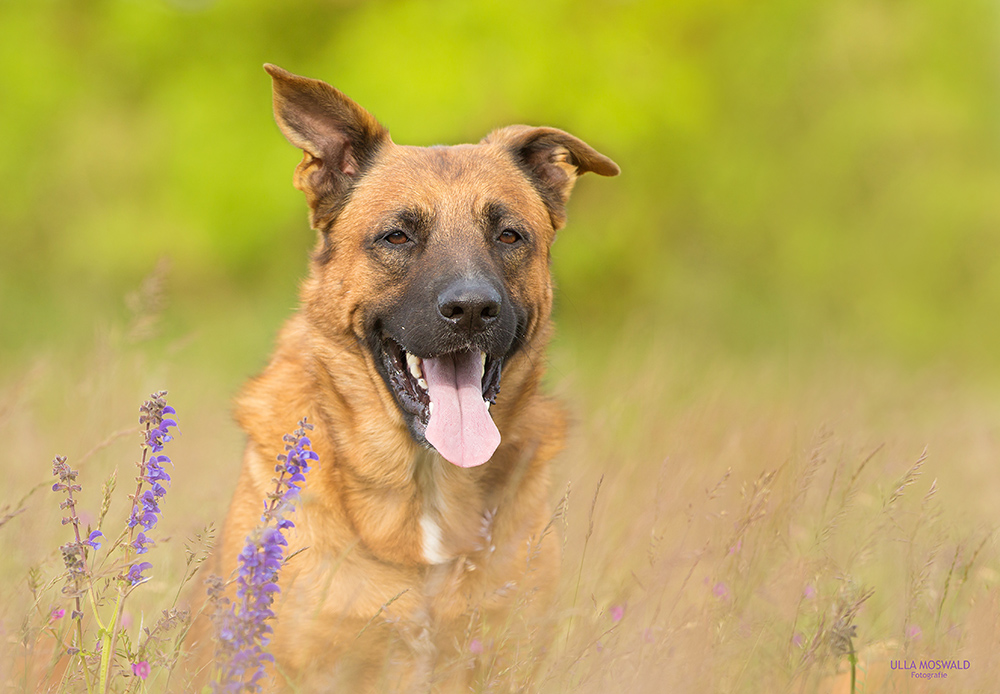
[(477, 349), (420, 358), (390, 338), (383, 360), (400, 407), (445, 460), (475, 467), (490, 459), (500, 445), (489, 413), (500, 391), (500, 359)]

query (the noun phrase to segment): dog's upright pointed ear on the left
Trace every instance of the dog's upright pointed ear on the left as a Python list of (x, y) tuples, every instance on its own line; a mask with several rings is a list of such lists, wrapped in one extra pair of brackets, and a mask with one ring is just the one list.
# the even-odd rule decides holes
[(274, 119), (305, 156), (295, 187), (306, 195), (314, 229), (336, 216), (353, 181), (389, 142), (389, 132), (368, 111), (326, 82), (264, 69), (274, 81)]

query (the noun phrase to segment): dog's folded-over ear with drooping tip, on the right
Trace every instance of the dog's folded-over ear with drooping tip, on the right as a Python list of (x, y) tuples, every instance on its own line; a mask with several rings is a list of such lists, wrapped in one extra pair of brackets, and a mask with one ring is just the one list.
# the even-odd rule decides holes
[(510, 152), (534, 182), (556, 229), (566, 223), (566, 201), (580, 175), (593, 171), (617, 176), (621, 172), (617, 164), (586, 142), (556, 128), (511, 125), (493, 131), (483, 143)]

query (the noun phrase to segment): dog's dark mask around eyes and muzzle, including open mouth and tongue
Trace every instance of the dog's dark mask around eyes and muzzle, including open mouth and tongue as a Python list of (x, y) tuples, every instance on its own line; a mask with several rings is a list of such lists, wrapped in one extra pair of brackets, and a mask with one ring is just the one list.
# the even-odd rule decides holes
[(373, 261), (390, 274), (402, 266), (407, 281), (373, 317), (369, 349), (414, 438), (456, 465), (479, 465), (499, 445), (488, 408), (529, 318), (507, 287), (532, 250), (497, 215), (451, 228), (432, 212), (423, 226), (403, 221), (416, 217), (375, 235)]

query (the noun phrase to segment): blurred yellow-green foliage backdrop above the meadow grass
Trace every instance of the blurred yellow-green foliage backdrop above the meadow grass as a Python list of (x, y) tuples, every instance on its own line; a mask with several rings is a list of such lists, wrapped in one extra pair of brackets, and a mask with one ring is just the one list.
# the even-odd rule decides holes
[(184, 358), (234, 383), (262, 364), (313, 242), (275, 62), (400, 143), (525, 122), (614, 158), (622, 176), (581, 181), (557, 243), (568, 339), (627, 324), (995, 376), (998, 17), (987, 0), (0, 0), (0, 371), (74, 351), (163, 257)]

